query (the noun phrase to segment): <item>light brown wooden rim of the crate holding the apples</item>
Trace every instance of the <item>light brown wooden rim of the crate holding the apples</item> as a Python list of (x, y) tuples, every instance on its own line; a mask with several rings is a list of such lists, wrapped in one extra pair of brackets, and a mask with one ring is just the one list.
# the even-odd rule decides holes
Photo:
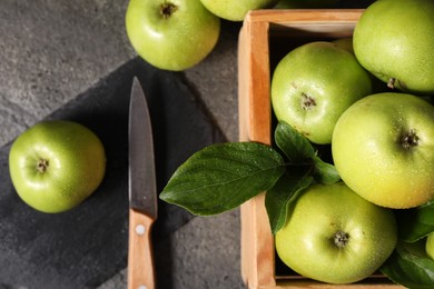
[[(238, 41), (238, 113), (239, 140), (269, 144), (272, 139), (270, 71), (268, 36), (270, 26), (309, 27), (331, 34), (333, 27), (354, 26), (363, 10), (255, 10), (250, 11)], [(319, 28), (319, 29), (318, 29)], [(325, 28), (325, 29), (324, 29)], [(253, 73), (254, 72), (254, 73)], [(265, 98), (264, 93), (268, 97)], [(264, 193), (240, 208), (241, 276), (248, 288), (288, 288), (286, 280), (275, 278), (274, 237), (269, 229)], [(388, 283), (325, 285), (292, 281), (292, 288), (403, 288)]]

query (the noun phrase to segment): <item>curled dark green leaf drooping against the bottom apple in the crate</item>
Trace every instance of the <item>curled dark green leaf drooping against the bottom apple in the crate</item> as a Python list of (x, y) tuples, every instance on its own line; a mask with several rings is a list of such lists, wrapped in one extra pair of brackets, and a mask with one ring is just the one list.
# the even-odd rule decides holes
[(266, 192), (265, 207), (273, 235), (285, 226), (288, 205), (313, 181), (314, 178), (306, 172), (289, 172)]

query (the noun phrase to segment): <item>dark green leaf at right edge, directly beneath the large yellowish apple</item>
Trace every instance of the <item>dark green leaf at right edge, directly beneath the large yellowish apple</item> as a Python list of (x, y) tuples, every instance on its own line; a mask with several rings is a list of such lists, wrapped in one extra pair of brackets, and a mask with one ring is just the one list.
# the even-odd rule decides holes
[(434, 203), (395, 212), (400, 238), (406, 242), (415, 242), (434, 231)]

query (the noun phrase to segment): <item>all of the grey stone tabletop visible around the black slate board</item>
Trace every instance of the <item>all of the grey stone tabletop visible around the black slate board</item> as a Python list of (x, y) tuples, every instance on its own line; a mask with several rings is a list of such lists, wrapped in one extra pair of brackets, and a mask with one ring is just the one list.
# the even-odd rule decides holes
[[(0, 1), (0, 144), (137, 57), (127, 0)], [(229, 141), (237, 140), (237, 37), (223, 23), (211, 54), (183, 72)], [(239, 212), (194, 218), (171, 237), (174, 288), (244, 288)], [(126, 288), (127, 268), (99, 288)], [(1, 280), (0, 280), (1, 281)]]

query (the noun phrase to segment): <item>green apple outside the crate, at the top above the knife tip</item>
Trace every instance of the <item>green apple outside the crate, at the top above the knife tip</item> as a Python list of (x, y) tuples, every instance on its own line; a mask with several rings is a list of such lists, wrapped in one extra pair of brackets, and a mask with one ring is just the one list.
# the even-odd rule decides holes
[(213, 51), (220, 19), (199, 0), (130, 0), (126, 29), (142, 59), (159, 69), (180, 71)]

